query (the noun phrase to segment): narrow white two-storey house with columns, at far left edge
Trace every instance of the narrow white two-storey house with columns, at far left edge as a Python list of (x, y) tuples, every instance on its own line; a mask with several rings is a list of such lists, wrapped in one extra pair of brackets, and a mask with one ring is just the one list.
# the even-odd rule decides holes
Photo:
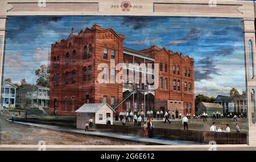
[(16, 86), (10, 82), (5, 82), (2, 85), (2, 106), (5, 108), (15, 108), (16, 103)]

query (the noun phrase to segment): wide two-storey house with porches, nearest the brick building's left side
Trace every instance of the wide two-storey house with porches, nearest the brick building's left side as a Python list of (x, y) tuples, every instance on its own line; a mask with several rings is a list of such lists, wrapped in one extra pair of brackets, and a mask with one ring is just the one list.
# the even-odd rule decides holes
[(48, 108), (49, 88), (36, 85), (21, 88), (17, 91), (16, 101), (22, 107)]

